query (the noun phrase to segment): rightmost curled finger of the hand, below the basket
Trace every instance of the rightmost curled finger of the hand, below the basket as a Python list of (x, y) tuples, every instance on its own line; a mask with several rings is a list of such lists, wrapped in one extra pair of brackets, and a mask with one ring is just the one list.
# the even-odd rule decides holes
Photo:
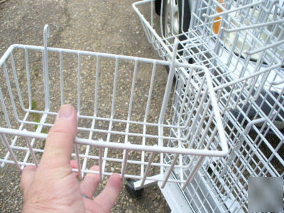
[(114, 207), (119, 192), (121, 190), (122, 178), (119, 174), (114, 173), (109, 178), (106, 187), (101, 194), (99, 194), (94, 202), (99, 204), (104, 212), (110, 212), (111, 208)]

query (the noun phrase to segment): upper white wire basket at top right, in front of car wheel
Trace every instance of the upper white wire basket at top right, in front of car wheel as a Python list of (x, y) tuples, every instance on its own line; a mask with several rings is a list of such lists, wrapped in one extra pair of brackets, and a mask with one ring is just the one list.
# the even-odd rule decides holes
[[(160, 24), (155, 23), (153, 2), (133, 4), (149, 43), (161, 58), (171, 60), (178, 38), (177, 59), (209, 68), (223, 111), (258, 99), (263, 87), (284, 87), (284, 11), (278, 1), (162, 0)], [(174, 4), (173, 13), (166, 13), (167, 4)], [(147, 6), (149, 13), (139, 10)], [(173, 16), (168, 20), (173, 29), (167, 29), (164, 16)]]

